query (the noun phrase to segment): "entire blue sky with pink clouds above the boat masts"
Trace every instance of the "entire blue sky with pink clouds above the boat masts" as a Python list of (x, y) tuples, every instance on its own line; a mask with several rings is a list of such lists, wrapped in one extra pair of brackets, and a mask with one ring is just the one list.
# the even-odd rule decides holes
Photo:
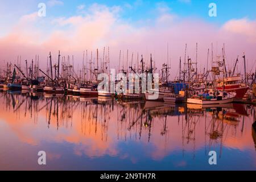
[[(45, 3), (46, 16), (38, 16), (39, 3)], [(209, 4), (215, 3), (217, 16), (209, 16)], [(62, 56), (74, 55), (81, 67), (83, 52), (104, 47), (110, 49), (110, 68), (119, 67), (122, 59), (131, 61), (132, 53), (148, 63), (150, 53), (156, 67), (171, 64), (171, 77), (178, 74), (179, 59), (196, 59), (198, 69), (207, 67), (208, 48), (213, 43), (214, 57), (221, 55), (225, 44), (228, 69), (233, 69), (239, 55), (238, 72), (243, 69), (242, 56), (246, 54), (247, 71), (255, 71), (256, 60), (256, 1), (1, 1), (0, 2), (0, 61), (15, 62), (40, 57), (46, 68), (49, 51), (53, 61), (57, 51)], [(168, 45), (168, 51), (167, 51)], [(88, 58), (89, 59), (89, 58)], [(123, 62), (121, 60), (121, 62)], [(126, 61), (125, 61), (126, 62)], [(24, 61), (22, 61), (24, 63)], [(134, 63), (134, 62), (133, 62)], [(122, 67), (122, 63), (121, 63)]]

